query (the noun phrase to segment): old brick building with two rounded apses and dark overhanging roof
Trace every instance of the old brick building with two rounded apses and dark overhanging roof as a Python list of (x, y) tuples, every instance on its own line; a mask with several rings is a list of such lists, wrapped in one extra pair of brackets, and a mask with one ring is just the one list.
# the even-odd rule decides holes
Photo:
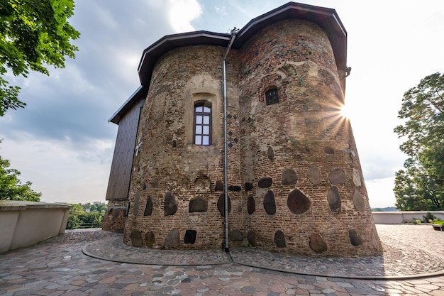
[[(380, 254), (353, 131), (340, 116), (346, 45), (334, 9), (290, 2), (235, 37), (167, 35), (144, 50), (142, 86), (111, 119), (120, 131), (126, 114), (140, 112), (132, 121), (124, 242)], [(111, 230), (126, 201), (112, 196), (113, 168), (104, 226)]]

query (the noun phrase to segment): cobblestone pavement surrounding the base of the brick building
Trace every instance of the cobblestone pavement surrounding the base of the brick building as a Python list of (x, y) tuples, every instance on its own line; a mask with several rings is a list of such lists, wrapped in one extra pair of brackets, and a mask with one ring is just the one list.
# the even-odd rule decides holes
[[(133, 254), (127, 256), (138, 264), (122, 263), (82, 252), (118, 261), (118, 252), (126, 248), (118, 243), (120, 235), (67, 231), (1, 253), (0, 295), (444, 295), (444, 231), (409, 225), (377, 229), (385, 251), (375, 266), (369, 258), (335, 258), (329, 263), (328, 258), (249, 249), (233, 249), (231, 258), (222, 251), (141, 253), (149, 250), (130, 248)], [(383, 271), (384, 276), (404, 279), (363, 279), (377, 278)]]

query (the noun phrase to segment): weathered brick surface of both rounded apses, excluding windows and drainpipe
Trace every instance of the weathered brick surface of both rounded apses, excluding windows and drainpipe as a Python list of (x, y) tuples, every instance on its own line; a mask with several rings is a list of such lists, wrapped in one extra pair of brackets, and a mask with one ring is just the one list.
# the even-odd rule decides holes
[[(131, 244), (130, 234), (137, 230), (142, 237), (150, 234), (150, 246), (163, 248), (168, 234), (177, 229), (179, 246), (174, 247), (222, 246), (223, 217), (217, 208), (221, 191), (215, 188), (216, 182), (220, 185), (223, 180), (221, 61), (225, 50), (211, 45), (189, 46), (171, 50), (157, 61), (138, 129), (142, 145), (133, 163), (126, 243)], [(339, 77), (326, 33), (315, 23), (298, 20), (263, 28), (243, 48), (231, 50), (226, 76), (228, 185), (243, 188), (228, 192), (229, 227), (238, 234), (232, 246), (247, 245), (249, 233), (256, 247), (289, 253), (380, 253), (353, 132), (350, 123), (340, 117), (343, 77)], [(267, 106), (265, 92), (274, 87), (279, 103)], [(213, 145), (194, 146), (194, 102), (203, 99), (211, 102), (213, 111)], [(291, 182), (286, 179), (284, 184), (289, 185), (282, 185), (283, 173), (293, 171), (297, 178), (292, 177)], [(336, 212), (331, 211), (327, 200), (333, 186), (328, 177), (332, 171), (340, 195)], [(260, 180), (261, 184), (267, 180), (270, 187), (258, 187)], [(248, 187), (245, 191), (245, 183), (254, 185), (252, 190)], [(291, 199), (292, 211), (287, 202), (295, 189), (309, 199), (308, 209), (301, 214), (294, 214), (301, 212), (294, 209), (299, 198)], [(353, 203), (355, 190), (364, 199), (359, 211)], [(264, 197), (270, 196), (270, 191), (275, 214), (264, 209)], [(174, 195), (177, 212), (165, 216), (167, 192)], [(152, 212), (144, 215), (148, 197)], [(196, 198), (208, 202), (206, 212), (189, 212), (189, 202)], [(194, 243), (184, 243), (187, 231), (196, 231)], [(238, 239), (240, 234), (243, 241)], [(310, 237), (324, 241), (326, 251), (313, 251)], [(362, 243), (354, 246), (360, 240)], [(147, 244), (143, 241), (143, 246)]]

